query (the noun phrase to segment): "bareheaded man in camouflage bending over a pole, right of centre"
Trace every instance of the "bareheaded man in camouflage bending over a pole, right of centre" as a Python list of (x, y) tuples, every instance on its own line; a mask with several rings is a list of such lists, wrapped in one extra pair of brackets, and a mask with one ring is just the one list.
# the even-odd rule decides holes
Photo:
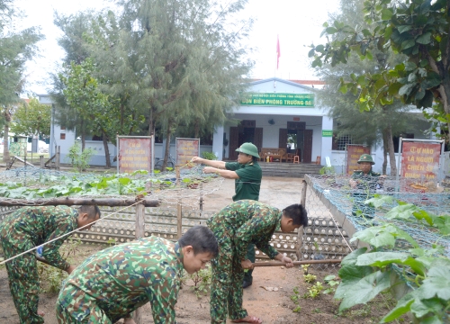
[[(246, 259), (247, 245), (255, 244), (267, 257), (293, 266), (293, 260), (278, 253), (269, 244), (275, 230), (293, 232), (308, 225), (308, 216), (301, 204), (293, 204), (283, 211), (262, 202), (241, 200), (225, 207), (211, 219), (208, 227), (216, 236), (220, 252), (212, 260), (211, 323), (225, 323), (227, 313), (234, 322), (261, 323), (242, 309), (242, 278), (244, 269), (253, 264)], [(227, 310), (228, 305), (228, 310)]]

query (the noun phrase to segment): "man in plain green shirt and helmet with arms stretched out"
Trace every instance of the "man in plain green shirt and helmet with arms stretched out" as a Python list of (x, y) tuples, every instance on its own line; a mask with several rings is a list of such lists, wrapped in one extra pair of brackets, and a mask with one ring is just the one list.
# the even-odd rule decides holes
[[(257, 163), (259, 154), (257, 146), (252, 143), (243, 143), (236, 149), (238, 154), (238, 162), (212, 161), (202, 157), (193, 157), (192, 162), (202, 163), (206, 165), (203, 173), (215, 173), (226, 179), (235, 179), (233, 202), (239, 200), (259, 200), (259, 191), (261, 189), (261, 178), (263, 171)], [(255, 262), (255, 245), (249, 244), (247, 247), (247, 259)], [(248, 270), (244, 276), (242, 286), (247, 288), (253, 284), (253, 270)]]

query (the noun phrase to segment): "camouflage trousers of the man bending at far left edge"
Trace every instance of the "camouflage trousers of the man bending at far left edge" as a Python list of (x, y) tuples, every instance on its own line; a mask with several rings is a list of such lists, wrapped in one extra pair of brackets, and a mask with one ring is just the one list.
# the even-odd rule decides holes
[[(4, 250), (4, 258), (17, 256), (33, 247), (32, 243), (21, 242), (27, 248), (15, 247), (8, 238), (0, 238)], [(25, 243), (25, 244), (24, 244)], [(6, 263), (9, 289), (13, 295), (14, 306), (21, 324), (43, 323), (44, 319), (38, 315), (39, 303), (39, 275), (36, 256), (30, 252), (22, 257)]]

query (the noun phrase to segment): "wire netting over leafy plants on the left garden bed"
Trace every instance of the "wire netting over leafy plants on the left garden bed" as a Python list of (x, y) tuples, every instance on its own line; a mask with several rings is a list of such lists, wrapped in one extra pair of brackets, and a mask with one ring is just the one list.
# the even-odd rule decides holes
[(182, 204), (198, 208), (202, 197), (220, 189), (223, 178), (205, 175), (202, 166), (181, 167), (179, 177), (175, 170), (167, 172), (75, 173), (20, 167), (0, 173), (0, 200), (9, 202), (51, 200), (58, 196), (84, 198), (129, 199), (144, 194), (161, 204)]

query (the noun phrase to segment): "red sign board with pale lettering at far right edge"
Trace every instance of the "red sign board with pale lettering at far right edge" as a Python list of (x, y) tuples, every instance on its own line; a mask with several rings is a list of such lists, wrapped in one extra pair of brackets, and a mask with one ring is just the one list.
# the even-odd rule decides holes
[(403, 142), (401, 176), (419, 180), (437, 180), (441, 145)]

